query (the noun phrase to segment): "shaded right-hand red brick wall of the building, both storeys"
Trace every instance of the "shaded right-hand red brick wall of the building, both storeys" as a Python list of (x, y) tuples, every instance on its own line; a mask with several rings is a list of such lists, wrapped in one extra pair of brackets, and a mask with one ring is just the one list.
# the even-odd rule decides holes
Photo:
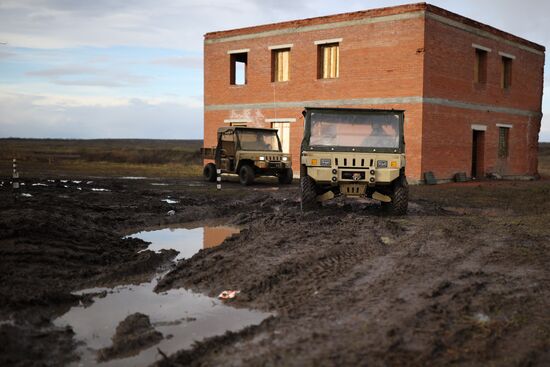
[[(474, 82), (475, 49), (472, 44), (491, 49), (487, 55), (487, 82)], [(524, 111), (540, 111), (544, 56), (510, 45), (502, 40), (480, 37), (464, 30), (426, 20), (424, 93), (428, 98), (444, 98)], [(499, 51), (516, 56), (512, 86), (501, 88)], [(448, 179), (456, 172), (471, 171), (472, 124), (487, 125), (485, 132), (485, 172), (504, 175), (534, 175), (539, 116), (475, 111), (426, 104), (424, 107), (422, 170)], [(510, 155), (498, 159), (496, 124), (512, 124)]]

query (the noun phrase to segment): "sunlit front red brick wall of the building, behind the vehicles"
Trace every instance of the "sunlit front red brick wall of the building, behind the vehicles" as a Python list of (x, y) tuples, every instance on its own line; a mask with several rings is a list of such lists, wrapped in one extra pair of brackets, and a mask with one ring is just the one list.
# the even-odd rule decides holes
[[(383, 22), (205, 45), (205, 105), (270, 103), (355, 98), (408, 97), (422, 94), (422, 18)], [(342, 38), (340, 77), (317, 79), (316, 40)], [(293, 44), (290, 81), (271, 82), (270, 45)], [(228, 50), (250, 49), (247, 85), (229, 84)], [(420, 51), (419, 51), (420, 50)], [(306, 106), (303, 106), (306, 107)], [(334, 107), (338, 107), (335, 104)], [(344, 106), (341, 106), (344, 107)], [(348, 106), (350, 107), (350, 106)], [(407, 152), (409, 174), (420, 174), (421, 106), (400, 104), (351, 106), (408, 109)], [(410, 109), (410, 110), (409, 110)], [(215, 143), (215, 130), (224, 119), (250, 118), (268, 127), (266, 118), (296, 118), (291, 123), (293, 168), (299, 170), (303, 108), (205, 111), (205, 146)]]

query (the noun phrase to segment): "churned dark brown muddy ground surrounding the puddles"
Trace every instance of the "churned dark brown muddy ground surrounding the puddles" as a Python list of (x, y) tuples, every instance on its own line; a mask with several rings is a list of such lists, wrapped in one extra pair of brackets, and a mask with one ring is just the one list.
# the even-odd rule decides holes
[(343, 200), (302, 213), (296, 185), (79, 180), (25, 178), (32, 196), (16, 201), (0, 187), (0, 365), (78, 360), (70, 328), (51, 324), (90, 302), (71, 292), (139, 282), (173, 256), (123, 235), (210, 218), (246, 229), (158, 290), (239, 289), (234, 306), (276, 316), (161, 366), (550, 364), (547, 179), (414, 186), (405, 217)]

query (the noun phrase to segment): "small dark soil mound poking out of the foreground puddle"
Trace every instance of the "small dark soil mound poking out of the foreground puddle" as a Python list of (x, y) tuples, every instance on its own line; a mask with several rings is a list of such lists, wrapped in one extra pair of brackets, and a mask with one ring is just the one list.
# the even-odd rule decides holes
[(98, 361), (137, 355), (140, 351), (158, 344), (163, 339), (151, 325), (149, 316), (142, 313), (129, 315), (118, 324), (113, 345), (98, 353)]

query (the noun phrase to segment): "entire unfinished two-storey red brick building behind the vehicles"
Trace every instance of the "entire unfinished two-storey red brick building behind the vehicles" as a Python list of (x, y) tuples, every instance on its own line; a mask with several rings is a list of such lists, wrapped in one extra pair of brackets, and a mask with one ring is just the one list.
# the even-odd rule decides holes
[(405, 110), (409, 181), (537, 174), (545, 48), (425, 3), (213, 32), (204, 144), (280, 130), (299, 172), (304, 107)]

